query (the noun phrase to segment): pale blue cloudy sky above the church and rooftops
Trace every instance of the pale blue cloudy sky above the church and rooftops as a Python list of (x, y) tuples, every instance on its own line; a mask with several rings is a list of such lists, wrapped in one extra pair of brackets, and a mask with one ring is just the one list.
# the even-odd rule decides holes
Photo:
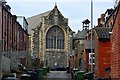
[[(82, 21), (91, 20), (91, 0), (6, 0), (11, 13), (26, 18), (52, 10), (55, 3), (65, 18), (69, 19), (69, 27), (77, 32), (82, 30)], [(107, 9), (114, 8), (115, 0), (93, 0), (93, 25), (97, 18)]]

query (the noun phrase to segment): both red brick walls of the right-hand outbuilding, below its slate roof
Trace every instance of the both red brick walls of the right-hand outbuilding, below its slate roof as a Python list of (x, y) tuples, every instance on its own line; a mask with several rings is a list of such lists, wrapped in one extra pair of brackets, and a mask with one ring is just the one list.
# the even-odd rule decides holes
[[(103, 40), (103, 39), (102, 39)], [(110, 40), (99, 40), (94, 34), (95, 41), (95, 77), (110, 78)]]

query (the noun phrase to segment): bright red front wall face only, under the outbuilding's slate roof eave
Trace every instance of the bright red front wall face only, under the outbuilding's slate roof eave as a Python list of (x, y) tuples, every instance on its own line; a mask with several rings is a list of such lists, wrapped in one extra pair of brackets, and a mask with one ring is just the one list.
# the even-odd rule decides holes
[(110, 67), (110, 41), (98, 43), (98, 77), (110, 78), (110, 72), (105, 71)]

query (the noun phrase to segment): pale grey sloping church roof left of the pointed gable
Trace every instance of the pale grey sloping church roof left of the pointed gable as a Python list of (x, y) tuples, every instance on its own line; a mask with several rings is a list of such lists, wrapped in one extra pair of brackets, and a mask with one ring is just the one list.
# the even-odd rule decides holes
[(31, 33), (31, 29), (32, 29), (32, 28), (35, 28), (35, 27), (37, 27), (37, 25), (39, 25), (39, 23), (41, 22), (41, 17), (47, 16), (50, 12), (51, 12), (51, 10), (27, 18), (27, 22), (28, 22), (28, 24), (29, 24), (29, 25), (28, 25), (28, 26), (29, 26), (29, 28), (28, 28), (28, 33)]

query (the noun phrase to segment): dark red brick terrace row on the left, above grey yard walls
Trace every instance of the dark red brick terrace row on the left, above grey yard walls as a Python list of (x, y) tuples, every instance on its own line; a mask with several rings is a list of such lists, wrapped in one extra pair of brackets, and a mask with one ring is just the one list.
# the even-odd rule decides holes
[(12, 15), (10, 6), (6, 2), (0, 4), (0, 42), (1, 51), (26, 51), (28, 50), (28, 32), (25, 31), (17, 16)]

